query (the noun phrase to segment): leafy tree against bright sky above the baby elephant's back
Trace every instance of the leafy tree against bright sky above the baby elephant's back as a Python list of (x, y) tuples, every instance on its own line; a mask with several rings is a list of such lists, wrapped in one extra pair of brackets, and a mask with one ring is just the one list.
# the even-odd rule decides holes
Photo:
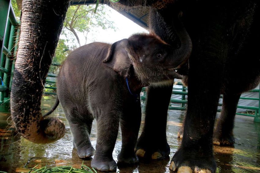
[[(98, 27), (102, 27), (102, 29), (112, 28), (115, 30), (113, 21), (106, 18), (109, 9), (105, 5), (99, 5), (97, 13), (93, 13), (94, 9), (95, 5), (69, 7), (61, 33), (63, 37), (65, 36), (65, 39), (61, 39), (61, 36), (55, 51), (53, 63), (61, 64), (69, 52), (81, 45), (85, 45), (89, 31), (95, 30)], [(80, 43), (80, 36), (82, 36), (82, 34), (84, 35), (83, 44)], [(75, 44), (75, 39), (77, 40), (77, 44)], [(58, 67), (51, 66), (50, 72), (58, 73)]]

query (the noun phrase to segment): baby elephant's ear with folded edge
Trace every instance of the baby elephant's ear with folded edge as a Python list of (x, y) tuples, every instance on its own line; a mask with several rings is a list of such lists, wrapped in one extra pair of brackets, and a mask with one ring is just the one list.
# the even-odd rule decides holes
[(103, 63), (119, 72), (121, 75), (126, 74), (132, 64), (132, 60), (126, 51), (128, 49), (128, 45), (128, 39), (123, 39), (113, 43), (109, 48), (106, 59)]

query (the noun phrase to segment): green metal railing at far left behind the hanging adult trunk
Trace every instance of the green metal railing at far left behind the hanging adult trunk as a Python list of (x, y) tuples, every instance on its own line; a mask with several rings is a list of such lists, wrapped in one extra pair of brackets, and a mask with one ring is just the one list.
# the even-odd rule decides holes
[(19, 27), (11, 1), (0, 0), (0, 112), (9, 112)]

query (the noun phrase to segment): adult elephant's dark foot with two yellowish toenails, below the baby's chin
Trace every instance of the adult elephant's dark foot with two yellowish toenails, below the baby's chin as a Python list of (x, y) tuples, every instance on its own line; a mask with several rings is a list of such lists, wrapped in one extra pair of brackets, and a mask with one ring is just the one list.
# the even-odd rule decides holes
[(141, 135), (137, 141), (135, 151), (139, 158), (162, 159), (169, 157), (170, 147), (166, 136), (165, 139), (160, 140), (153, 137), (145, 138)]

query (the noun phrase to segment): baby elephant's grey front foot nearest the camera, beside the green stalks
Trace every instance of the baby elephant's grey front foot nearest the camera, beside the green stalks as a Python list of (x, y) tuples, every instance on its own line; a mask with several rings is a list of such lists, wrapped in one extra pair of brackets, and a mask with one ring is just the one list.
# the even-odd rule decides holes
[[(103, 161), (107, 160), (107, 161)], [(91, 161), (91, 167), (102, 172), (115, 172), (117, 170), (117, 163), (113, 159), (99, 159), (94, 157)]]

